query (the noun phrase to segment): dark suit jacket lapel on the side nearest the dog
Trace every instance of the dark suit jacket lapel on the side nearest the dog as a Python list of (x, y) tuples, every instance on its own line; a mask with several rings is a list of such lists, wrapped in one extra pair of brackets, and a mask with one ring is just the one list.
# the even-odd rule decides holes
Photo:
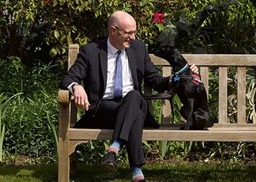
[(136, 58), (135, 58), (135, 52), (132, 50), (130, 47), (127, 49), (127, 56), (129, 60), (129, 68), (131, 69), (132, 72), (132, 81), (135, 86), (135, 90), (138, 90), (138, 79), (137, 79), (137, 71), (136, 71)]

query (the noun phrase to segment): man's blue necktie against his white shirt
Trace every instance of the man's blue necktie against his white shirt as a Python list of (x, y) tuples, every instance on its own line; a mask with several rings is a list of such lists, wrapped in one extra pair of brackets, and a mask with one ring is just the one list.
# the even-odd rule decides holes
[(116, 79), (114, 98), (122, 98), (123, 82), (122, 82), (122, 66), (121, 66), (121, 50), (118, 50), (116, 58)]

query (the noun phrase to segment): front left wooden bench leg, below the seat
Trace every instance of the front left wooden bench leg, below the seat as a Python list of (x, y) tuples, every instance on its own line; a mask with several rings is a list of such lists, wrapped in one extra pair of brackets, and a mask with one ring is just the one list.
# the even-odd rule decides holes
[(68, 140), (59, 138), (59, 182), (69, 182), (69, 146)]

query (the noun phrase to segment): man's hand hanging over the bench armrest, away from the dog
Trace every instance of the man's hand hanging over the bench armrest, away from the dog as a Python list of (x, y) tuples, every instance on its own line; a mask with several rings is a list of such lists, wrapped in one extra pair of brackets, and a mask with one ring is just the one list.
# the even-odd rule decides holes
[(78, 84), (73, 87), (74, 97), (75, 97), (75, 106), (78, 108), (86, 108), (86, 111), (88, 111), (90, 103), (86, 94), (86, 91), (83, 89), (83, 87)]

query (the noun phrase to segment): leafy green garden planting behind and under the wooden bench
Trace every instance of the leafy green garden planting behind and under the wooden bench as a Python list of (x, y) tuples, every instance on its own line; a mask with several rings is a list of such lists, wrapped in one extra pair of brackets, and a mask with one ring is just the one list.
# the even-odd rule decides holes
[[(48, 164), (58, 160), (57, 95), (67, 73), (68, 44), (107, 36), (112, 12), (138, 23), (137, 39), (152, 47), (173, 44), (182, 53), (255, 54), (255, 1), (219, 0), (4, 0), (0, 1), (0, 162)], [(159, 17), (158, 14), (165, 14)], [(158, 17), (159, 19), (156, 19)], [(155, 19), (154, 19), (155, 18)], [(161, 20), (164, 20), (163, 22)], [(246, 121), (256, 123), (256, 67), (247, 69)], [(217, 71), (209, 72), (211, 118), (217, 118)], [(236, 70), (229, 71), (228, 121), (236, 121)], [(15, 95), (15, 96), (13, 96)], [(177, 106), (180, 106), (176, 99)], [(154, 103), (154, 116), (160, 116)], [(78, 117), (83, 113), (79, 111)], [(180, 115), (176, 111), (176, 120)], [(78, 160), (101, 162), (109, 141), (78, 147)], [(143, 142), (146, 157), (239, 162), (255, 157), (255, 143)], [(127, 163), (121, 152), (120, 163)]]

